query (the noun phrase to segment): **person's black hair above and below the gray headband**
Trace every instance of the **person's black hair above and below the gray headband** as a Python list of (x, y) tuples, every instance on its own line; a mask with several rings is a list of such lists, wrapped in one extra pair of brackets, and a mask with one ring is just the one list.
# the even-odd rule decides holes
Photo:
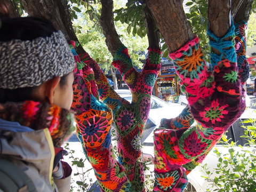
[[(0, 28), (0, 42), (11, 41), (12, 39), (20, 39), (23, 41), (33, 40), (38, 37), (49, 37), (57, 29), (53, 24), (44, 18), (37, 17), (20, 17), (1, 19), (2, 26)], [(1, 67), (1, 66), (0, 66)], [(66, 84), (68, 75), (63, 75), (60, 79), (60, 86)], [(0, 103), (7, 101), (21, 102), (25, 100), (33, 100), (31, 94), (37, 88), (25, 87), (14, 90), (0, 88)]]

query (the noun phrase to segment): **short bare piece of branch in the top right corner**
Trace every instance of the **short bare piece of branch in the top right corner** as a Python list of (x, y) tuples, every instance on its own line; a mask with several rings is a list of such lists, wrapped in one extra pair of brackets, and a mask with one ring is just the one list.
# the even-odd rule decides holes
[(235, 17), (234, 21), (239, 22), (239, 21), (248, 21), (251, 11), (252, 11), (252, 3), (253, 0), (244, 0), (241, 6), (239, 7)]

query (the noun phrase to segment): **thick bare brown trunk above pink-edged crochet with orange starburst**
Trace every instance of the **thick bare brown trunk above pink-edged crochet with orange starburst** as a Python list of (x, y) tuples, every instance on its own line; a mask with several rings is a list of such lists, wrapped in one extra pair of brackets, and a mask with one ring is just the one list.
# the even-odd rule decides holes
[(170, 52), (176, 51), (194, 38), (182, 2), (181, 0), (146, 0)]

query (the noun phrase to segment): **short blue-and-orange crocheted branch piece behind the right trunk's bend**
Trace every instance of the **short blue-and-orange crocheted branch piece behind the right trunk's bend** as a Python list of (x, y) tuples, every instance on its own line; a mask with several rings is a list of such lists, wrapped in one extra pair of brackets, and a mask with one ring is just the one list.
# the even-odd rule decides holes
[(161, 119), (159, 127), (165, 129), (179, 130), (179, 129), (188, 129), (194, 123), (194, 117), (191, 114), (189, 105), (187, 105), (175, 118)]

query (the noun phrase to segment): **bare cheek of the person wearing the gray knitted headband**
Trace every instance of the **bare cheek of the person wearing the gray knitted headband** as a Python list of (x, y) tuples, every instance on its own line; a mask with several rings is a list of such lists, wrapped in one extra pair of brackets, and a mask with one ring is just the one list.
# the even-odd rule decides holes
[(70, 109), (73, 102), (73, 82), (74, 74), (69, 73), (64, 86), (58, 85), (55, 90), (55, 96), (53, 98), (53, 104), (60, 106), (61, 108)]

